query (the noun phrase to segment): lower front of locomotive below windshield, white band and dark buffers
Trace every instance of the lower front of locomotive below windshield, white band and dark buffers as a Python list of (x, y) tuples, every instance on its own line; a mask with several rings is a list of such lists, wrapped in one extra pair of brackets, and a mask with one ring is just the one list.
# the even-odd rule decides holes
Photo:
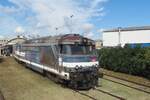
[(69, 73), (69, 86), (75, 89), (90, 89), (98, 85), (98, 61), (95, 56), (65, 56), (64, 71)]

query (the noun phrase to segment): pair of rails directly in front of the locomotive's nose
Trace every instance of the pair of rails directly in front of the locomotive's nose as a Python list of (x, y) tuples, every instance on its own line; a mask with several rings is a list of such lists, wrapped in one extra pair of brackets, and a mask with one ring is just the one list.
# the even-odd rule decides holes
[[(101, 93), (103, 93), (103, 94), (106, 94), (106, 95), (109, 95), (109, 96), (111, 96), (111, 97), (114, 97), (114, 98), (116, 98), (117, 100), (126, 100), (125, 98), (123, 98), (123, 97), (120, 97), (120, 96), (118, 96), (118, 95), (114, 95), (114, 94), (112, 94), (112, 93), (110, 93), (110, 92), (107, 92), (107, 91), (105, 91), (105, 90), (102, 90), (102, 89), (94, 89), (95, 91), (97, 91), (97, 92), (101, 92)], [(77, 93), (79, 93), (80, 95), (83, 95), (83, 96), (85, 96), (85, 97), (88, 97), (88, 98), (90, 98), (90, 99), (92, 99), (92, 100), (98, 100), (97, 98), (94, 98), (94, 97), (92, 97), (92, 96), (90, 96), (90, 95), (88, 95), (88, 94), (85, 94), (85, 93), (82, 93), (82, 92), (80, 92), (80, 91), (78, 91), (78, 90), (74, 90), (75, 92), (77, 92)]]

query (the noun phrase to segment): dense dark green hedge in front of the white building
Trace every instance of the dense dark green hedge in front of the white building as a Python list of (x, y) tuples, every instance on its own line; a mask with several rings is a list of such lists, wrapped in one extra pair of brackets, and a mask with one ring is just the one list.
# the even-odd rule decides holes
[(100, 66), (105, 69), (150, 79), (150, 48), (102, 48), (98, 54)]

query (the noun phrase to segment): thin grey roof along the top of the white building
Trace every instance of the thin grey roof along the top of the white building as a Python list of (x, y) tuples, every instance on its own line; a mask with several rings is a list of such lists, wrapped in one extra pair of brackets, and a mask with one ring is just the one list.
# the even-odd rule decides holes
[(115, 29), (104, 30), (103, 32), (118, 32), (118, 31), (141, 31), (141, 30), (150, 30), (150, 26), (141, 26), (141, 27), (118, 27)]

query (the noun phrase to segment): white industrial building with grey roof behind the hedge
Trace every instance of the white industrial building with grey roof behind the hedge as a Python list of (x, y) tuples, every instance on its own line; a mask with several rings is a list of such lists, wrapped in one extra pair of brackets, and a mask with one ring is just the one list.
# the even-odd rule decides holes
[(115, 47), (126, 44), (150, 46), (150, 26), (116, 28), (103, 31), (103, 46)]

